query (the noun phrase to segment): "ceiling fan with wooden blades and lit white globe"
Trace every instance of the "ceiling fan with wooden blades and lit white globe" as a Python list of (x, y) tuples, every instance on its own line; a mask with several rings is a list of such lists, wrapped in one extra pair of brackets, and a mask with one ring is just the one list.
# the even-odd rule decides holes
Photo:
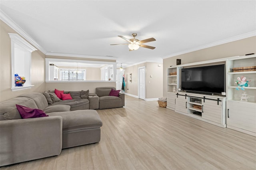
[(129, 51), (137, 50), (137, 49), (139, 49), (139, 47), (144, 47), (144, 48), (149, 48), (149, 49), (155, 49), (156, 48), (156, 47), (152, 47), (152, 46), (143, 44), (143, 43), (147, 43), (147, 42), (156, 41), (156, 39), (148, 38), (148, 39), (145, 39), (145, 40), (138, 40), (138, 39), (135, 38), (137, 36), (136, 33), (133, 33), (132, 36), (133, 36), (133, 38), (130, 39), (130, 40), (125, 38), (124, 36), (118, 36), (118, 37), (128, 41), (129, 43), (119, 43), (119, 44), (110, 44), (110, 45), (128, 45)]

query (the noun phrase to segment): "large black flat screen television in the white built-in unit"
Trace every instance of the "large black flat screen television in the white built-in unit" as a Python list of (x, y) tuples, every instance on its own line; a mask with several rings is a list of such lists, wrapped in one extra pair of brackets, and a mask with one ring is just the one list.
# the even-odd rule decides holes
[(181, 89), (209, 95), (225, 92), (225, 64), (182, 69)]

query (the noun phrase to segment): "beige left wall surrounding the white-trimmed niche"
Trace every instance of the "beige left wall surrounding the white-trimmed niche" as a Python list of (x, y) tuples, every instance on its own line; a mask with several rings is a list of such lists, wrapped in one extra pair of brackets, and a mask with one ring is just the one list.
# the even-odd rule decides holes
[(41, 51), (32, 52), (31, 89), (12, 91), (11, 80), (11, 40), (8, 33), (17, 33), (0, 20), (0, 101), (12, 99), (24, 93), (43, 92), (45, 89), (45, 55)]

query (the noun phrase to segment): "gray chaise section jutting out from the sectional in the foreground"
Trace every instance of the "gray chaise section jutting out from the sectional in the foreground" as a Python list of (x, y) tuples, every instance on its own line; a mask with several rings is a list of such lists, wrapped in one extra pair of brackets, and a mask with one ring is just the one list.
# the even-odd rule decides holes
[(100, 142), (102, 121), (95, 110), (48, 113), (62, 117), (62, 148)]

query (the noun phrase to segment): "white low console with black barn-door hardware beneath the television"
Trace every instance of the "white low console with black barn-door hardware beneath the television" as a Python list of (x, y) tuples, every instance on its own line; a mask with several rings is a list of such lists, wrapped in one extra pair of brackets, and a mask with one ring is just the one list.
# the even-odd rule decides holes
[(226, 127), (226, 97), (176, 92), (168, 93), (167, 98), (168, 109), (219, 127)]

